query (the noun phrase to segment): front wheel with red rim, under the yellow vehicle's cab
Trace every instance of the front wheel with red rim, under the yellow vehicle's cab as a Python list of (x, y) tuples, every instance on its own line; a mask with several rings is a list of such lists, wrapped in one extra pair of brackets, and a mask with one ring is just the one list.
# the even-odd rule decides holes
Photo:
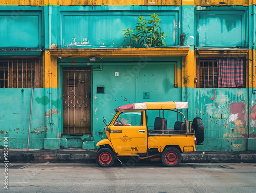
[(115, 154), (109, 148), (101, 148), (96, 154), (96, 163), (101, 167), (110, 167), (115, 161)]

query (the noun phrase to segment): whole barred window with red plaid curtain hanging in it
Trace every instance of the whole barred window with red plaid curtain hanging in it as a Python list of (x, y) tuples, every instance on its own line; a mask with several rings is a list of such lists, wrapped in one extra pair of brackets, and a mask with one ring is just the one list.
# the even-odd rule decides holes
[(245, 59), (197, 59), (197, 88), (245, 87)]

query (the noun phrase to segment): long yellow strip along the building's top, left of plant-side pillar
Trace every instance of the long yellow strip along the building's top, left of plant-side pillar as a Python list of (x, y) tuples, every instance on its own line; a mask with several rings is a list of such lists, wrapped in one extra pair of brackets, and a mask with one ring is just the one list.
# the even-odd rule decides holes
[(0, 5), (28, 5), (28, 6), (43, 6), (43, 5), (145, 5), (145, 6), (180, 6), (182, 0), (0, 0)]

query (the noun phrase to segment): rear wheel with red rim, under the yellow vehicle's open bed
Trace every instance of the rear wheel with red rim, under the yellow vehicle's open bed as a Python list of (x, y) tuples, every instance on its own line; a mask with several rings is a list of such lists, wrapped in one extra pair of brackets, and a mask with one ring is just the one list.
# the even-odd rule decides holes
[(176, 167), (181, 162), (181, 153), (177, 148), (168, 147), (162, 153), (162, 162), (167, 167)]

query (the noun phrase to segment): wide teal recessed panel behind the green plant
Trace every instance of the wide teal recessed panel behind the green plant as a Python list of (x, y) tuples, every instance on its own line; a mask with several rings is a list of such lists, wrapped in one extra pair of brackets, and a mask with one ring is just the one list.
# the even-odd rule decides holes
[[(179, 33), (175, 33), (179, 17), (177, 11), (61, 11), (61, 48), (124, 48), (129, 39), (123, 40), (123, 29), (135, 29), (138, 19), (159, 13), (162, 19), (161, 30), (168, 34), (165, 43), (168, 46), (178, 45)], [(104, 32), (104, 33), (102, 33)], [(134, 31), (136, 33), (136, 31)], [(135, 46), (135, 45), (134, 45)]]

